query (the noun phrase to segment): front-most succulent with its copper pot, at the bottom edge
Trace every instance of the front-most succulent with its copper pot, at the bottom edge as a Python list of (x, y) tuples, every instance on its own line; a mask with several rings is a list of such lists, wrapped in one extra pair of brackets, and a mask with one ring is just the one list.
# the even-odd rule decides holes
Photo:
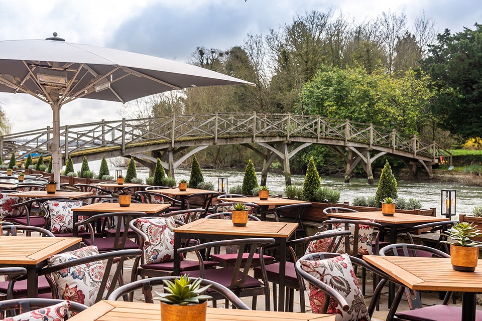
[(207, 300), (212, 297), (202, 294), (210, 285), (201, 287), (201, 280), (191, 281), (188, 275), (175, 278), (174, 282), (164, 280), (164, 293), (153, 297), (161, 301), (163, 321), (205, 321)]

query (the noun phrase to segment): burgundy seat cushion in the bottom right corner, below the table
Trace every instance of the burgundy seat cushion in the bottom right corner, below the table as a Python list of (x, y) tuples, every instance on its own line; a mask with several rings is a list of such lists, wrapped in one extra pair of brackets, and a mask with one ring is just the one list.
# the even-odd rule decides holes
[[(398, 312), (395, 315), (410, 321), (453, 321), (462, 319), (462, 308), (454, 305), (437, 304)], [(482, 321), (482, 311), (475, 311), (475, 320)]]

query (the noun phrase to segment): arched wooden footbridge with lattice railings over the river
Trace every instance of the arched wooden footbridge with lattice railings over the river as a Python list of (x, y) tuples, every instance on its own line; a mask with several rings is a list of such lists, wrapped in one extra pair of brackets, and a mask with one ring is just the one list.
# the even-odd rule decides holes
[[(52, 128), (0, 136), (4, 161), (12, 152), (20, 162), (27, 153), (52, 151)], [(450, 152), (435, 141), (424, 142), (409, 135), (342, 119), (313, 115), (216, 113), (174, 115), (160, 118), (100, 121), (60, 128), (63, 159), (80, 163), (84, 155), (92, 161), (106, 157), (134, 156), (154, 169), (157, 157), (174, 177), (174, 169), (194, 153), (211, 145), (241, 144), (263, 156), (262, 185), (275, 159), (283, 165), (286, 183), (291, 184), (290, 158), (312, 144), (337, 151), (346, 161), (345, 182), (360, 164), (373, 183), (372, 163), (382, 155), (402, 159), (413, 175), (423, 167), (432, 176), (432, 165), (440, 156), (450, 162)], [(48, 156), (47, 156), (48, 159)]]

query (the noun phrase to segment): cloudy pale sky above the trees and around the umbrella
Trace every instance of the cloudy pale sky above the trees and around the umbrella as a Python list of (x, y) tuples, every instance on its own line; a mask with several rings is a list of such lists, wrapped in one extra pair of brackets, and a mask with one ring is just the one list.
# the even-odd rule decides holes
[[(196, 47), (229, 49), (248, 34), (267, 34), (296, 15), (330, 8), (363, 21), (383, 12), (405, 14), (408, 25), (425, 12), (436, 31), (482, 23), (480, 0), (0, 0), (0, 40), (45, 39), (57, 32), (89, 44), (186, 62)], [(50, 107), (26, 94), (0, 93), (12, 132), (52, 126)], [(120, 103), (79, 99), (62, 107), (61, 125), (121, 118)]]

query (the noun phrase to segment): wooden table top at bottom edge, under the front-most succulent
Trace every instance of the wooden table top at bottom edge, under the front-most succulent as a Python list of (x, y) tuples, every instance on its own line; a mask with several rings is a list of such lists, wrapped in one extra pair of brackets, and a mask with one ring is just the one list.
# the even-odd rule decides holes
[[(159, 303), (124, 302), (102, 300), (88, 309), (74, 315), (72, 321), (100, 320), (132, 320), (159, 321), (161, 308)], [(335, 321), (333, 314), (313, 314), (295, 312), (277, 312), (261, 310), (239, 310), (207, 308), (206, 321), (236, 320), (236, 321)]]

